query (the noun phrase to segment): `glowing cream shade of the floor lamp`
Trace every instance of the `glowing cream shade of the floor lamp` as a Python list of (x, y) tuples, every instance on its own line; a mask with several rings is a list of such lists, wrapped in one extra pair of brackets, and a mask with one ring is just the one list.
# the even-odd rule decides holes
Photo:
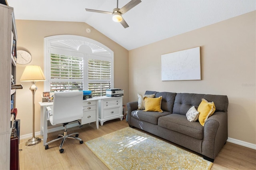
[(45, 81), (45, 77), (40, 66), (27, 65), (20, 77), (20, 81)]

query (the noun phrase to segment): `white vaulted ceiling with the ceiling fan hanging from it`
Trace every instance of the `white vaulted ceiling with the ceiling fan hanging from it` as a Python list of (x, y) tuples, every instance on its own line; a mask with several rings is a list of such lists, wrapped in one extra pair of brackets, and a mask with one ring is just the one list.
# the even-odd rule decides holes
[[(109, 14), (116, 0), (7, 0), (18, 20), (86, 22), (124, 48), (131, 50), (256, 10), (256, 0), (142, 0), (123, 18), (124, 28)], [(119, 0), (122, 8), (130, 0)], [(86, 28), (84, 28), (86, 32)]]

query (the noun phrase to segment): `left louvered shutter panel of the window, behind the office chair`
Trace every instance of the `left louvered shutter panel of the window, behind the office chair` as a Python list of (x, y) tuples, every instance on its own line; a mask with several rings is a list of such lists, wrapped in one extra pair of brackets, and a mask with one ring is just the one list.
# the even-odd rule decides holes
[(83, 90), (83, 58), (51, 53), (50, 68), (51, 92)]

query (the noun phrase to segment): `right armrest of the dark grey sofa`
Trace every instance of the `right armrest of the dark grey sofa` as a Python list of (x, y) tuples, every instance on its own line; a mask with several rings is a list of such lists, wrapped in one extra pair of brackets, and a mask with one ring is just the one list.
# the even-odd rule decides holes
[(212, 162), (228, 139), (228, 113), (216, 112), (204, 124), (202, 155)]

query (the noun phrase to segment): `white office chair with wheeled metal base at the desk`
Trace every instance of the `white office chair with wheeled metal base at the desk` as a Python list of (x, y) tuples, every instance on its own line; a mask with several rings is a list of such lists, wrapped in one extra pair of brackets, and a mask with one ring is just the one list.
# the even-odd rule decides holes
[[(67, 134), (66, 125), (70, 122), (78, 121), (83, 117), (83, 92), (82, 91), (73, 91), (73, 92), (57, 92), (54, 93), (53, 98), (53, 108), (46, 107), (46, 111), (49, 116), (49, 121), (52, 125), (62, 124), (65, 127), (64, 135), (59, 134), (58, 138), (47, 142), (45, 144), (45, 149), (48, 149), (48, 144), (61, 140), (60, 143), (60, 153), (64, 152), (62, 145), (66, 138), (72, 138), (80, 141), (80, 144), (83, 143), (82, 139), (78, 138), (78, 132)], [(80, 122), (78, 121), (79, 125)], [(72, 136), (76, 135), (76, 137)]]

